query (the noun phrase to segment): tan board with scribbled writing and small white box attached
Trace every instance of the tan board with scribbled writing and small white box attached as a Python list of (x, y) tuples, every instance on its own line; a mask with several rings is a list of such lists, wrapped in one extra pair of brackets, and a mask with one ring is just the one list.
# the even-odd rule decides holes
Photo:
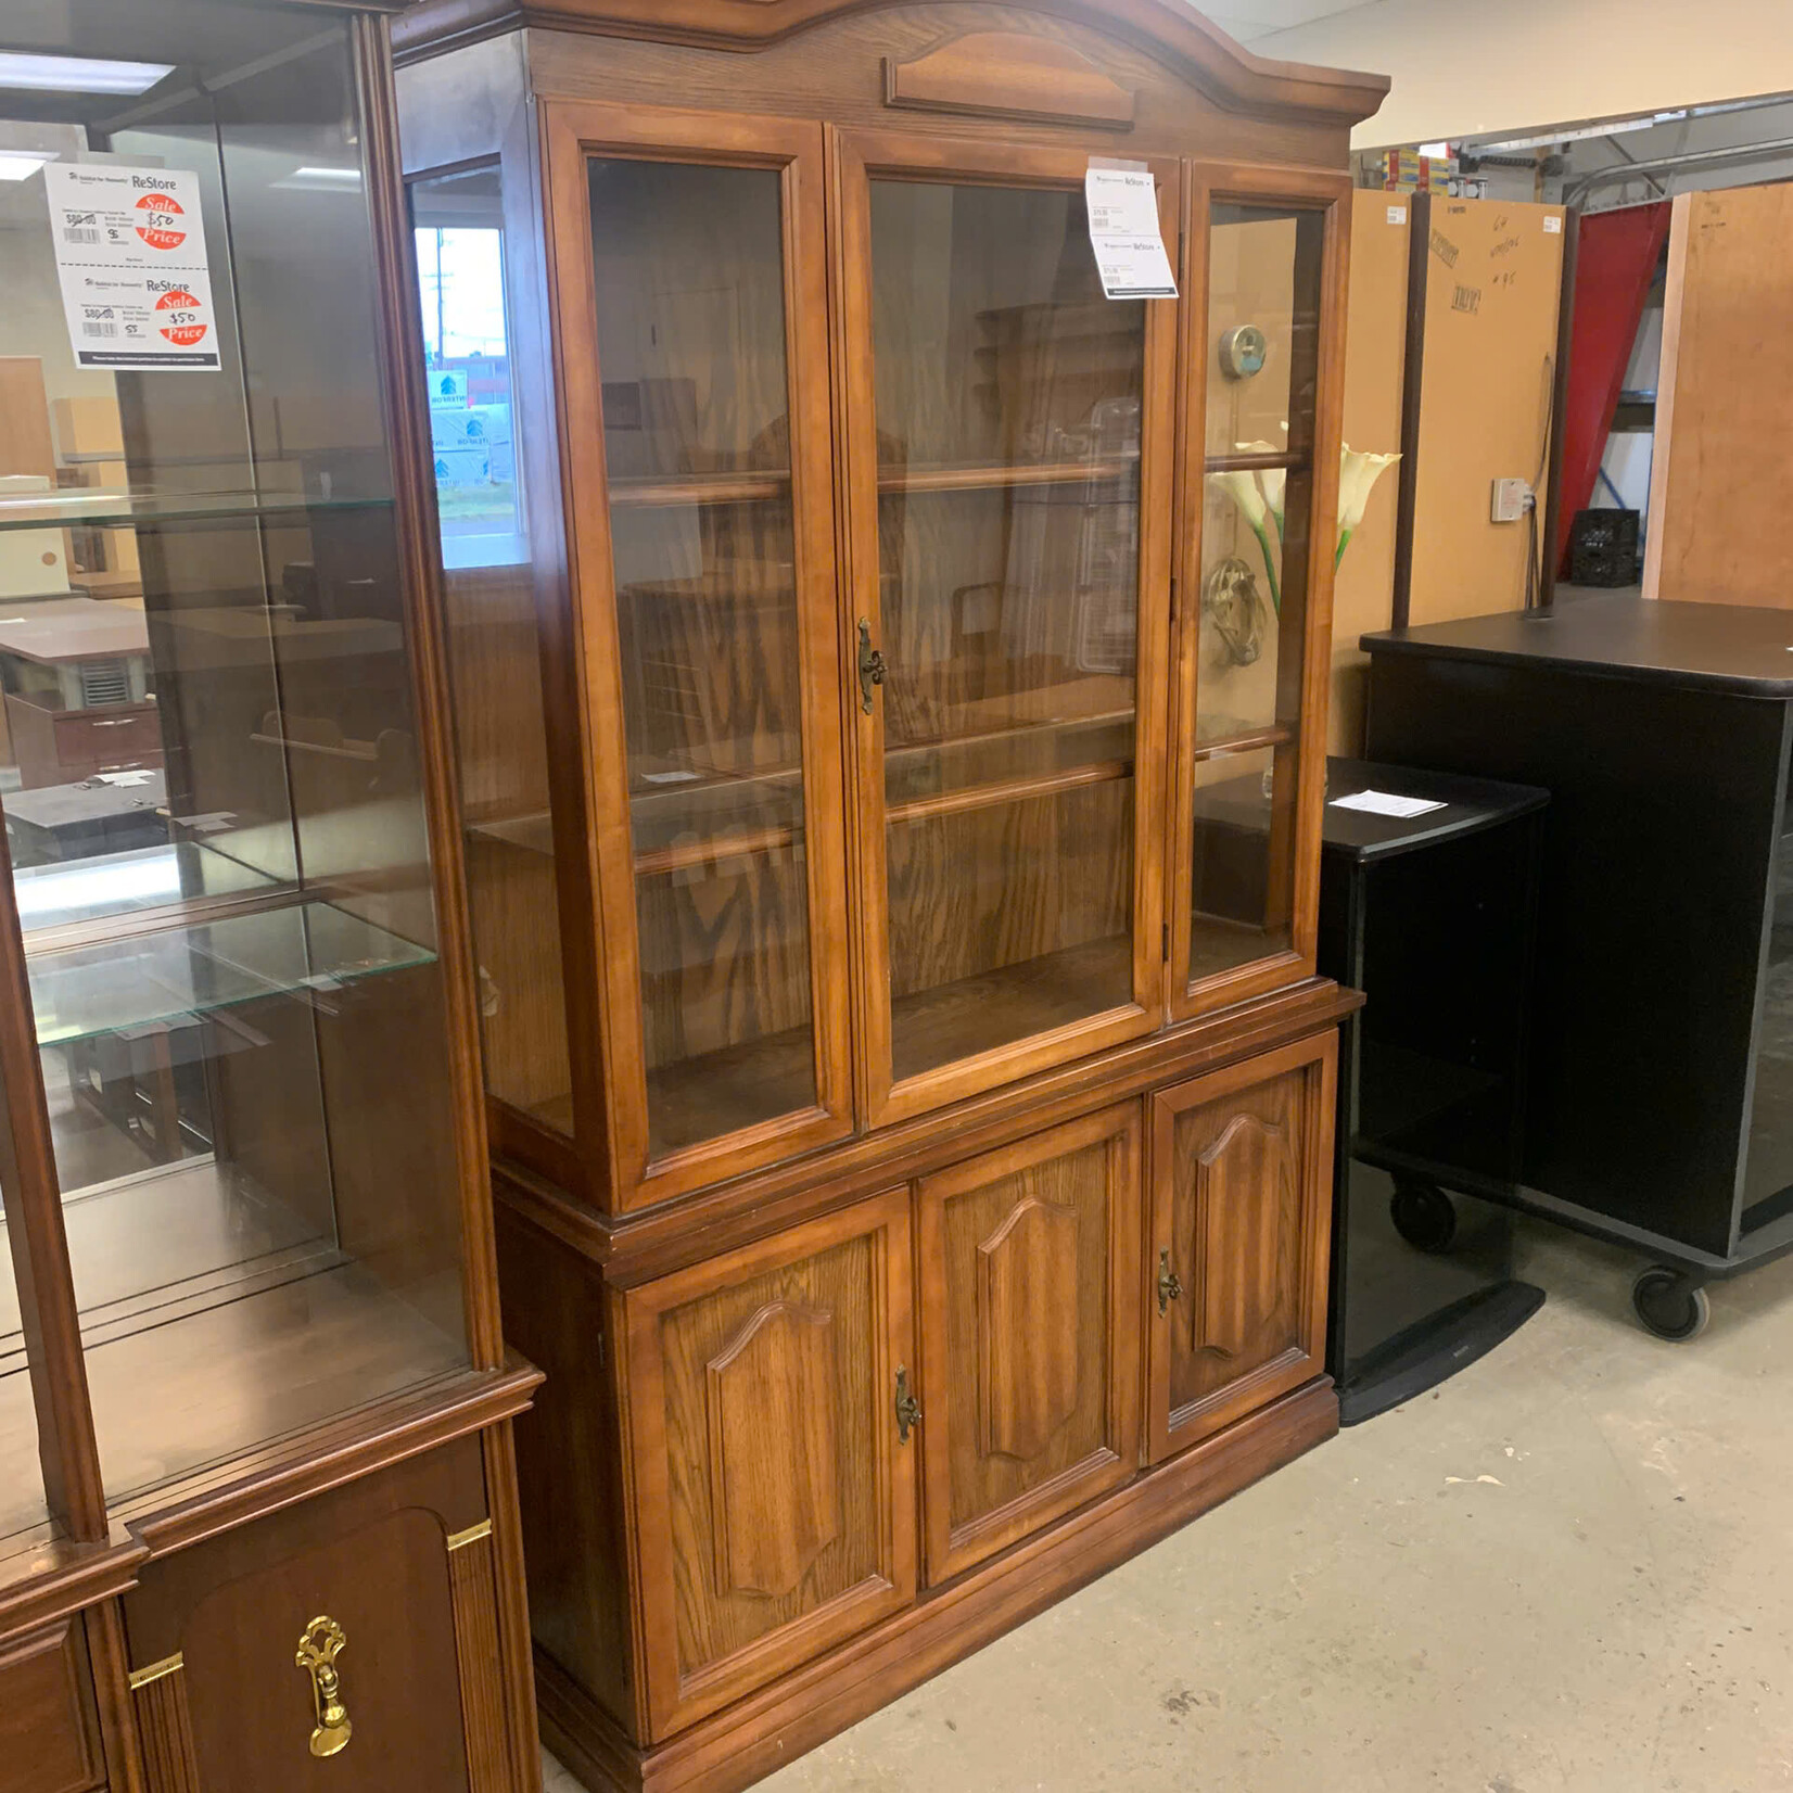
[(1531, 531), (1488, 506), (1495, 479), (1544, 466), (1563, 265), (1562, 206), (1445, 199), (1431, 217), (1415, 624), (1524, 606)]

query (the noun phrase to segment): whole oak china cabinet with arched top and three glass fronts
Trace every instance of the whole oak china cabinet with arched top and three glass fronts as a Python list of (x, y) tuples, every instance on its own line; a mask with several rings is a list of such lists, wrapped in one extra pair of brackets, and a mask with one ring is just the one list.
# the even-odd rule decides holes
[[(1384, 82), (1171, 0), (394, 43), (541, 1716), (593, 1788), (742, 1788), (1338, 1424)], [(1115, 163), (1176, 296), (1104, 292)]]

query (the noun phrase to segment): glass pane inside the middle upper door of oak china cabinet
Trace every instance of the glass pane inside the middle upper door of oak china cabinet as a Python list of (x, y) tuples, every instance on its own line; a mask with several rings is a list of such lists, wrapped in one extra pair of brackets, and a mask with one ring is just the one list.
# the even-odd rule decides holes
[(1083, 195), (875, 179), (898, 1081), (1133, 999), (1146, 308)]

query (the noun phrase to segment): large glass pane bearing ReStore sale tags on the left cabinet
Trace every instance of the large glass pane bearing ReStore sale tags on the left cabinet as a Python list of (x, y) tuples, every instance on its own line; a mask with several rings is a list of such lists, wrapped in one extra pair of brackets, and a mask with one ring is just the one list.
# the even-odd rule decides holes
[[(131, 41), (142, 95), (41, 100), (0, 188), (0, 810), (115, 1504), (468, 1356), (348, 27), (165, 0)], [(210, 360), (86, 353), (59, 165), (178, 183)], [(0, 1352), (11, 1399), (16, 1316)]]

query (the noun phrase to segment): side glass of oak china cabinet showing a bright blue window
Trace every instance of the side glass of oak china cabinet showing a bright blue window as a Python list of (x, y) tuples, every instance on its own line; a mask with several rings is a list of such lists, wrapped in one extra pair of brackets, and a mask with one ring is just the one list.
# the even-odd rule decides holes
[(572, 1135), (549, 748), (497, 167), (411, 185), (486, 1087)]

